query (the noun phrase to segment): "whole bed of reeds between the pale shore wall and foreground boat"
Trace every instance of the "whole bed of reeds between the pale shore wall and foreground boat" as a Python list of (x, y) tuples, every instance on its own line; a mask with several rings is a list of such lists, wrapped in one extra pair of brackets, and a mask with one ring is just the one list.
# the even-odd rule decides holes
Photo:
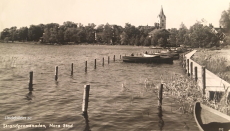
[(209, 107), (230, 115), (230, 95), (227, 92), (229, 87), (224, 87), (225, 92), (220, 98), (214, 97), (213, 100), (209, 100), (209, 98), (203, 97), (202, 90), (190, 77), (174, 74), (171, 78), (164, 78), (163, 83), (166, 92), (164, 94), (174, 98), (174, 101), (180, 105), (178, 110), (183, 114), (192, 113), (193, 104), (200, 101)]

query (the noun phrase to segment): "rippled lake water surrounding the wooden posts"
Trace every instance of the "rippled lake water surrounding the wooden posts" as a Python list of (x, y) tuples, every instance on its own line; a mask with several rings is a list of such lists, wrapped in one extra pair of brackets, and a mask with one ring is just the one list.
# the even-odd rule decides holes
[[(163, 99), (163, 116), (157, 108), (154, 89), (161, 78), (184, 74), (179, 60), (173, 64), (135, 64), (120, 60), (120, 55), (144, 51), (151, 50), (133, 46), (0, 43), (0, 130), (186, 131), (189, 128), (196, 131), (192, 114), (178, 111), (176, 100)], [(94, 59), (97, 59), (96, 69)], [(85, 61), (88, 61), (87, 73)], [(74, 63), (73, 76), (70, 75), (71, 63)], [(59, 68), (57, 82), (55, 66)], [(28, 90), (30, 71), (34, 72), (31, 93)], [(82, 98), (86, 84), (91, 87), (88, 116), (84, 117)], [(13, 120), (12, 116), (27, 119)], [(17, 124), (40, 124), (46, 128), (10, 128)]]

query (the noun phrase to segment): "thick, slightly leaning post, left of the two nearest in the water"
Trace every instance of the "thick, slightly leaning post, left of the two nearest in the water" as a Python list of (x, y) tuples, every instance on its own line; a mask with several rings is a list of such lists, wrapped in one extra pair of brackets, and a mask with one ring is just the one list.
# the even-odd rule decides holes
[(84, 85), (84, 94), (83, 94), (83, 102), (82, 102), (83, 114), (87, 113), (88, 102), (89, 102), (89, 90), (90, 90), (90, 85)]

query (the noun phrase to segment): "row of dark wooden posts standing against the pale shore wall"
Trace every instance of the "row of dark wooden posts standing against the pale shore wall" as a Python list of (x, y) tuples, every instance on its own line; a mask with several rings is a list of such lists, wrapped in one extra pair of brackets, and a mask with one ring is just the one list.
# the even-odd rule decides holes
[[(185, 68), (186, 74), (191, 77), (191, 79), (194, 79), (196, 82), (198, 81), (198, 69), (197, 66), (193, 68), (193, 62), (189, 61), (189, 58), (185, 57), (185, 54), (182, 55), (182, 67)], [(187, 69), (186, 69), (187, 67)], [(193, 71), (194, 69), (194, 71)], [(203, 96), (205, 96), (205, 89), (206, 89), (206, 75), (205, 75), (205, 66), (201, 67), (201, 82), (202, 82), (202, 93)]]

